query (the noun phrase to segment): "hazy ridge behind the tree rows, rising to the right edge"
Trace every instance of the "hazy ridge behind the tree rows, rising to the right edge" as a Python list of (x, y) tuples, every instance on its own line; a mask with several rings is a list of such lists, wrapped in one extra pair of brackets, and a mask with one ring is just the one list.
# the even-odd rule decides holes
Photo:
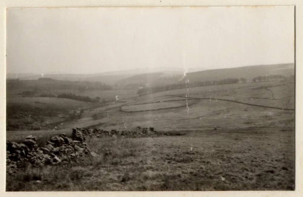
[(136, 85), (138, 87), (154, 87), (159, 85), (185, 83), (185, 80), (189, 80), (191, 83), (196, 81), (242, 77), (245, 78), (247, 82), (250, 82), (252, 78), (257, 76), (283, 75), (289, 77), (290, 75), (294, 75), (294, 68), (294, 64), (257, 65), (190, 72), (186, 74), (186, 77), (183, 77), (181, 74), (169, 75), (167, 73), (148, 73), (119, 80), (118, 84), (125, 87), (129, 84), (132, 84), (132, 87), (135, 87)]

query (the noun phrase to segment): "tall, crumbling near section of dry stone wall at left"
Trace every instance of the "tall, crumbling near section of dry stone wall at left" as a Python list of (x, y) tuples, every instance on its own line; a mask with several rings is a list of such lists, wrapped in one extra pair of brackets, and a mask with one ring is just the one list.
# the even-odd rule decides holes
[(71, 138), (65, 133), (52, 136), (44, 147), (38, 147), (36, 137), (31, 135), (23, 143), (6, 142), (6, 171), (15, 173), (28, 164), (33, 167), (64, 164), (89, 154), (96, 156), (96, 153), (89, 151), (85, 134), (78, 128), (73, 129)]

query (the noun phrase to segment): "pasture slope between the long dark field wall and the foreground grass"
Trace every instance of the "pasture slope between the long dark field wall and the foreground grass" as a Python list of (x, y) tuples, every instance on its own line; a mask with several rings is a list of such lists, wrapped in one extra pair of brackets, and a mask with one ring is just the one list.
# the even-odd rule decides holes
[(294, 112), (289, 110), (254, 107), (228, 101), (200, 100), (188, 108), (185, 106), (132, 113), (116, 111), (100, 119), (99, 123), (103, 123), (100, 128), (106, 129), (132, 129), (145, 125), (158, 130), (191, 130), (220, 127), (293, 127), (295, 119)]

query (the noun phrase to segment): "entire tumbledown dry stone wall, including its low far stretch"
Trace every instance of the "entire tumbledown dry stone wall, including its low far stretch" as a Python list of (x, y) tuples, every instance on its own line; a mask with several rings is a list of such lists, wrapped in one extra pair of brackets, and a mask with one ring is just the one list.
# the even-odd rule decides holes
[(137, 128), (137, 131), (105, 131), (102, 129), (77, 128), (72, 130), (71, 138), (65, 133), (52, 136), (43, 147), (38, 147), (35, 136), (27, 136), (23, 143), (6, 142), (6, 172), (13, 174), (27, 165), (43, 167), (45, 165), (66, 164), (78, 156), (98, 156), (88, 149), (86, 136), (93, 137), (146, 137), (163, 135), (154, 128)]

